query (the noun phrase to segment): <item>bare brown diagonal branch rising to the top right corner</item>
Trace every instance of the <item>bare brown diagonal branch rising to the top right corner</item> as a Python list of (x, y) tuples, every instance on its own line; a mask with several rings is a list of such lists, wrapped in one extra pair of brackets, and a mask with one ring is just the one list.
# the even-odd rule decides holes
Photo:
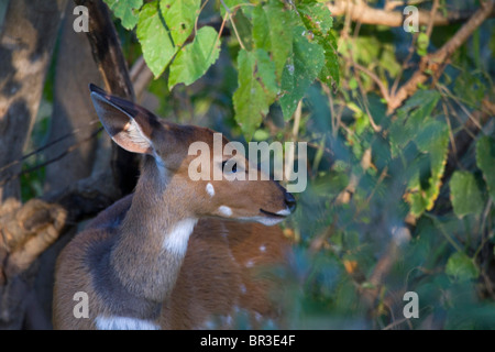
[(481, 8), (472, 15), (472, 18), (437, 52), (425, 56), (419, 69), (414, 73), (411, 78), (406, 81), (388, 100), (388, 113), (400, 107), (404, 100), (413, 96), (418, 86), (424, 84), (430, 75), (427, 72), (435, 73), (435, 77), (439, 77), (446, 67), (448, 59), (452, 54), (464, 44), (473, 32), (492, 14), (494, 9), (494, 0), (482, 3)]

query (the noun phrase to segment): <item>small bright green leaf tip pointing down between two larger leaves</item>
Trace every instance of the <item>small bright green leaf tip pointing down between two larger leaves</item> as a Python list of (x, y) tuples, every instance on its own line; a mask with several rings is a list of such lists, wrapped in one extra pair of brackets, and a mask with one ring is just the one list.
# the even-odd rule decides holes
[(175, 46), (187, 40), (199, 14), (201, 0), (161, 0), (160, 9), (170, 31)]

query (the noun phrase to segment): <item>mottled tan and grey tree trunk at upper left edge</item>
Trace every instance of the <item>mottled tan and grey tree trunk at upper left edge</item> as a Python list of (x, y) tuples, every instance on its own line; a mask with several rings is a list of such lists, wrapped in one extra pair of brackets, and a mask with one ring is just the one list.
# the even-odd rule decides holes
[[(40, 107), (66, 0), (10, 1), (0, 34), (0, 165), (22, 156)], [(2, 178), (19, 173), (14, 165)], [(20, 199), (18, 178), (0, 186), (0, 202)]]

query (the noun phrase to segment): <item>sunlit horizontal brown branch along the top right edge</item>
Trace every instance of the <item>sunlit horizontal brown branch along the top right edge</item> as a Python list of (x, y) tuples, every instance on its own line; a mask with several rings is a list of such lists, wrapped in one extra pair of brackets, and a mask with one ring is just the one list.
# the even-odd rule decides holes
[[(369, 7), (363, 1), (349, 1), (337, 0), (336, 3), (328, 3), (327, 8), (332, 15), (345, 15), (349, 13), (350, 18), (354, 22), (361, 22), (365, 24), (382, 24), (387, 26), (402, 26), (404, 23), (404, 15), (402, 11), (391, 11), (374, 9)], [(447, 16), (437, 12), (433, 16), (430, 11), (418, 11), (419, 25), (449, 25), (452, 23), (464, 22), (474, 11), (449, 11)], [(495, 12), (491, 11), (490, 16), (495, 16)]]

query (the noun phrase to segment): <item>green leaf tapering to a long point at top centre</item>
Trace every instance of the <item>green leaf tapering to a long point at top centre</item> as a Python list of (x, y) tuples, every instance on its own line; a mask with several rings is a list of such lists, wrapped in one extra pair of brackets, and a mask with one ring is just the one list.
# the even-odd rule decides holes
[(272, 56), (278, 81), (293, 50), (293, 25), (294, 14), (280, 1), (270, 1), (253, 10), (254, 46)]

